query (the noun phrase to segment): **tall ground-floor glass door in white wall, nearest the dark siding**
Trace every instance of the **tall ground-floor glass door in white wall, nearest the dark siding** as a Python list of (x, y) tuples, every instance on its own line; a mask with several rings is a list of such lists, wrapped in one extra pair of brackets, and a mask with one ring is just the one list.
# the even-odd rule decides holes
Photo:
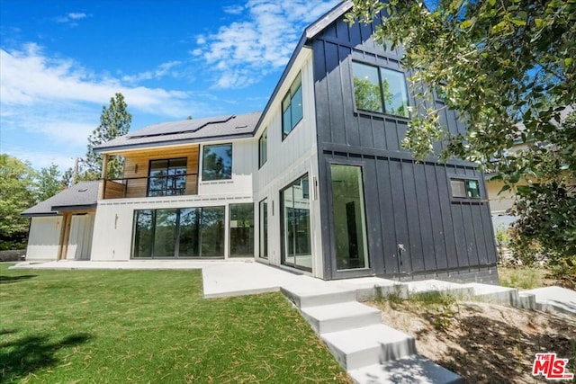
[(311, 271), (311, 223), (308, 175), (280, 192), (282, 201), (283, 263)]

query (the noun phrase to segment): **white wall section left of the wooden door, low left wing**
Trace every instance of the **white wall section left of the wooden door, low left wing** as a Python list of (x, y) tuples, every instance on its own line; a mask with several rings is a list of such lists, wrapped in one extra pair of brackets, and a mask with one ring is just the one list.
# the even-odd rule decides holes
[(26, 260), (56, 260), (62, 217), (31, 218)]

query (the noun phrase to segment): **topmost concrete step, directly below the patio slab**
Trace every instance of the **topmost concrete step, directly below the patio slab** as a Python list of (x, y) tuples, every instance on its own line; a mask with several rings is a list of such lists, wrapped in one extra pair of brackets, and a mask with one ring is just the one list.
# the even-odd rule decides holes
[(355, 290), (309, 290), (299, 287), (281, 287), (280, 291), (282, 291), (284, 296), (292, 301), (297, 308), (301, 309), (356, 301)]

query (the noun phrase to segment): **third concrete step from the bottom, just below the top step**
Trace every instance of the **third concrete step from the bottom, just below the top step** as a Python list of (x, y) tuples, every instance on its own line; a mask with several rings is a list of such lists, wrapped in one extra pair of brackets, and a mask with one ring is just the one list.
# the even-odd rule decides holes
[(302, 308), (302, 316), (319, 334), (382, 323), (382, 312), (356, 301)]

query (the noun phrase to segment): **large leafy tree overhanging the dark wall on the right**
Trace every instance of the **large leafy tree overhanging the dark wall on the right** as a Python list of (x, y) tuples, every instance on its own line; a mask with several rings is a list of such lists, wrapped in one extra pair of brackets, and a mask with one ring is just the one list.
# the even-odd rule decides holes
[[(419, 159), (460, 157), (494, 173), (518, 191), (518, 235), (576, 256), (576, 124), (566, 117), (576, 105), (576, 1), (439, 0), (428, 9), (415, 0), (354, 0), (347, 20), (371, 22), (381, 11), (388, 16), (374, 38), (403, 47), (414, 110), (424, 112), (404, 146)], [(443, 108), (467, 134), (440, 126)], [(438, 140), (446, 146), (432, 154)], [(523, 149), (511, 151), (518, 143)], [(527, 185), (516, 188), (520, 181)]]

